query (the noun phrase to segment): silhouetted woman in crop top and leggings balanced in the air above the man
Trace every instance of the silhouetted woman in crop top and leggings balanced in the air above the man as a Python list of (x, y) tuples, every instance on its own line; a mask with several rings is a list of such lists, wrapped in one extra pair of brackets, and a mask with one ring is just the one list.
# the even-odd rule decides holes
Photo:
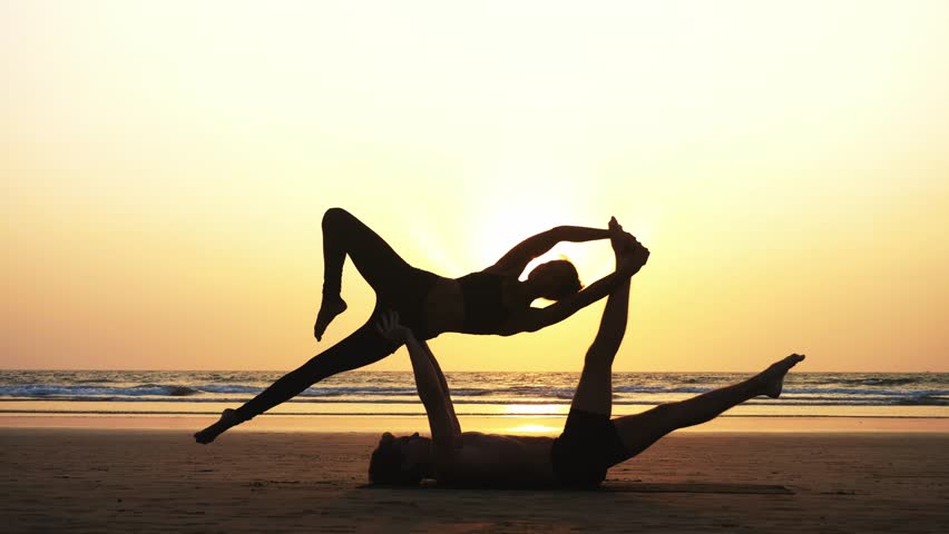
[[(483, 270), (461, 278), (444, 278), (405, 263), (379, 235), (344, 209), (326, 210), (323, 301), (313, 333), (321, 339), (333, 318), (346, 309), (340, 296), (346, 255), (375, 291), (372, 316), (349, 337), (280, 378), (239, 408), (224, 411), (221, 419), (195, 434), (195, 439), (211, 443), (227, 428), (293, 398), (329, 376), (379, 362), (395, 352), (399, 344), (374, 327), (380, 310), (397, 312), (401, 323), (421, 339), (444, 332), (510, 336), (566, 319), (607, 296), (635, 271), (617, 268), (581, 289), (574, 265), (554, 260), (537, 266), (526, 280), (518, 278), (528, 263), (557, 243), (607, 239), (610, 231), (622, 230), (558, 226), (526, 239)], [(531, 307), (538, 298), (556, 303), (545, 308)]]

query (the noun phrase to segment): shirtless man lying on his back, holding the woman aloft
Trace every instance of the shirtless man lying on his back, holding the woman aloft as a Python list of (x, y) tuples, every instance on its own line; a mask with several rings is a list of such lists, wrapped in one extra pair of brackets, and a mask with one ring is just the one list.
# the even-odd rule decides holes
[[(636, 261), (642, 266), (649, 257), (649, 251), (628, 234), (615, 237), (613, 244), (618, 264)], [(428, 345), (400, 325), (397, 314), (384, 314), (376, 327), (408, 347), (432, 437), (383, 434), (370, 461), (370, 482), (418, 484), (422, 478), (434, 478), (460, 485), (595, 487), (606, 478), (609, 467), (636, 456), (672, 431), (711, 421), (759, 395), (777, 398), (784, 375), (804, 359), (792, 354), (740, 384), (610, 419), (613, 359), (626, 330), (628, 303), (626, 280), (607, 299), (567, 424), (556, 439), (461, 432), (448, 384)]]

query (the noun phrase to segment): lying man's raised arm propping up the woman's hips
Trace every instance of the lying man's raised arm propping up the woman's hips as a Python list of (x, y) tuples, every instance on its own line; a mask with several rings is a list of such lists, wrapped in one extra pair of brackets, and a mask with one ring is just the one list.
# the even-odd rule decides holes
[(432, 366), (434, 360), (431, 353), (415, 339), (415, 335), (409, 328), (399, 324), (399, 314), (387, 312), (376, 324), (379, 333), (388, 339), (404, 343), (409, 349), (409, 358), (412, 362), (412, 373), (415, 376), (415, 389), (419, 398), (425, 407), (429, 417), (429, 427), (432, 432), (432, 445), (436, 454), (446, 453), (453, 448), (454, 438), (460, 434), (458, 419), (454, 417), (454, 407), (447, 390), (442, 389), (439, 379), (440, 373)]

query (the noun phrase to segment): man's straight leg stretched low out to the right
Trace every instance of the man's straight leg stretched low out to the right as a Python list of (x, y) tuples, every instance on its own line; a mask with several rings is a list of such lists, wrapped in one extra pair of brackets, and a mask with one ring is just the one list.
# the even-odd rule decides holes
[(677, 428), (712, 421), (728, 408), (759, 395), (777, 398), (784, 384), (784, 375), (802, 359), (804, 356), (792, 354), (734, 386), (715, 389), (678, 403), (662, 404), (642, 414), (613, 419), (629, 455), (627, 458), (642, 453), (658, 438)]

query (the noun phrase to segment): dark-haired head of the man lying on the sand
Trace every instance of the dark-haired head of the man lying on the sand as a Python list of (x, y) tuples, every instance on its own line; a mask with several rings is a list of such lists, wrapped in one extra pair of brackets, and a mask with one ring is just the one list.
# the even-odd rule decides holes
[(431, 441), (414, 433), (395, 437), (385, 433), (369, 461), (371, 484), (414, 485), (432, 472)]

